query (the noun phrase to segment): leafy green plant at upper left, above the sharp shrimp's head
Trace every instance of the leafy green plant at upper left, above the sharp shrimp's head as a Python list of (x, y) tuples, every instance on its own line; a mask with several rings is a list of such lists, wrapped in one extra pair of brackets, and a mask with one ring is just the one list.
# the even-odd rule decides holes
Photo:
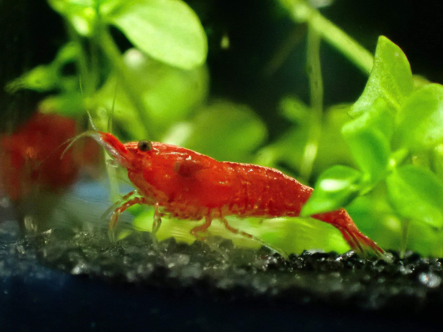
[[(171, 103), (180, 100), (185, 105), (204, 97), (206, 34), (183, 1), (49, 0), (49, 4), (62, 15), (70, 41), (53, 62), (31, 69), (7, 87), (58, 92), (42, 101), (44, 112), (78, 117), (89, 109), (100, 124), (106, 117), (100, 108), (110, 109), (107, 102), (113, 100), (118, 85), (122, 96), (117, 102), (124, 104), (124, 120), (131, 126), (119, 117), (118, 109), (117, 123), (122, 120), (122, 126), (131, 128), (130, 136), (159, 139), (167, 113), (159, 106), (162, 94)], [(135, 49), (123, 56), (110, 27), (119, 29)], [(75, 64), (75, 73), (66, 75), (63, 68), (70, 63)], [(175, 109), (170, 106), (166, 111)]]

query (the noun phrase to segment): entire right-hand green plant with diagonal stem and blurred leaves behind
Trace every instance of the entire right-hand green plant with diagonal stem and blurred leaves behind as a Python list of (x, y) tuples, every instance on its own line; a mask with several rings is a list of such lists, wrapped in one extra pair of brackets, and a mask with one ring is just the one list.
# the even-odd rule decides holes
[[(313, 170), (318, 174), (302, 216), (345, 207), (384, 247), (404, 253), (409, 243), (416, 251), (442, 255), (443, 86), (412, 75), (403, 51), (389, 39), (379, 38), (372, 57), (307, 2), (281, 3), (297, 23), (308, 25), (311, 106), (294, 97), (282, 100), (282, 114), (294, 127), (264, 147), (257, 161), (268, 166), (283, 162), (304, 181)], [(315, 38), (369, 74), (354, 104), (321, 109), (320, 64), (312, 60), (319, 49), (310, 46)]]

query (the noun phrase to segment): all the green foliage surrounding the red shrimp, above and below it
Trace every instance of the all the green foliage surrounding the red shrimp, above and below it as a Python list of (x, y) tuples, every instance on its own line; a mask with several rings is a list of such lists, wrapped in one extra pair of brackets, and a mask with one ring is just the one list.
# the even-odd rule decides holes
[[(41, 112), (81, 124), (88, 110), (103, 131), (112, 117), (113, 133), (123, 141), (149, 138), (218, 160), (279, 168), (304, 183), (316, 179), (304, 216), (346, 207), (361, 231), (385, 249), (442, 255), (443, 87), (413, 76), (406, 56), (389, 39), (380, 37), (372, 57), (306, 1), (278, 2), (292, 19), (309, 26), (308, 38), (329, 42), (370, 75), (352, 105), (323, 109), (321, 89), (312, 94), (311, 105), (281, 96), (275, 116), (290, 126), (272, 141), (248, 105), (210, 97), (206, 35), (181, 0), (49, 0), (65, 21), (69, 41), (53, 62), (24, 73), (7, 89), (48, 93)], [(132, 43), (124, 54), (110, 26)], [(319, 47), (310, 51), (308, 68), (321, 74), (315, 63)], [(66, 74), (70, 64), (74, 73)], [(321, 75), (311, 80), (320, 83)], [(131, 212), (135, 228), (151, 229), (152, 208)], [(229, 222), (287, 252), (349, 248), (335, 228), (307, 217)], [(163, 218), (158, 236), (192, 242), (194, 226)], [(239, 245), (259, 245), (218, 223), (209, 231)]]

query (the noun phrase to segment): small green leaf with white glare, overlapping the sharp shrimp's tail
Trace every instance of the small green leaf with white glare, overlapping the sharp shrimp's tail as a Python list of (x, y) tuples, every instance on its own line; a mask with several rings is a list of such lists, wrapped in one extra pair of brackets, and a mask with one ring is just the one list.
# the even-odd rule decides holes
[(332, 166), (320, 175), (300, 216), (334, 211), (349, 204), (360, 189), (362, 174), (347, 166)]

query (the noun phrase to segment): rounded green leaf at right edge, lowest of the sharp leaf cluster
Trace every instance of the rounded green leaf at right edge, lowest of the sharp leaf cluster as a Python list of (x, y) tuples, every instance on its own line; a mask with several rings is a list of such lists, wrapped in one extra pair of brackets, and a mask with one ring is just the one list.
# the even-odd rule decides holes
[(389, 199), (400, 216), (443, 227), (443, 184), (435, 174), (406, 165), (394, 170), (386, 183)]

